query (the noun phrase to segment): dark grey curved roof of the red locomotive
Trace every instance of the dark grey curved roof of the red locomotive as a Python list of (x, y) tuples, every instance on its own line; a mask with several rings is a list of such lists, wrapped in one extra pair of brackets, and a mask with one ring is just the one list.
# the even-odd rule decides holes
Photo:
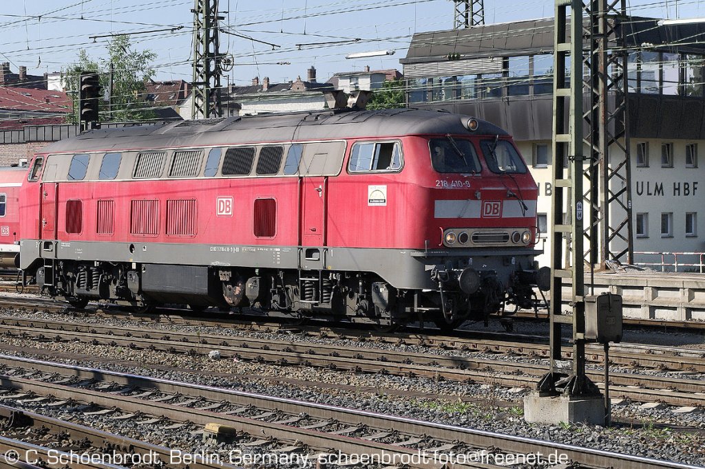
[(92, 130), (50, 144), (42, 153), (75, 151), (225, 146), (401, 135), (508, 135), (500, 127), (477, 119), (470, 132), (468, 115), (419, 109), (379, 111), (324, 111), (185, 120), (166, 125), (145, 125)]

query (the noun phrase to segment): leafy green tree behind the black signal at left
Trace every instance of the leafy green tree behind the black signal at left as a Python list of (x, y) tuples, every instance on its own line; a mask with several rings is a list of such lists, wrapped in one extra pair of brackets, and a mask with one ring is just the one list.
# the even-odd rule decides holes
[(80, 73), (96, 72), (100, 74), (100, 85), (105, 94), (109, 93), (110, 68), (113, 65), (113, 91), (111, 106), (100, 101), (102, 121), (146, 120), (155, 117), (154, 111), (145, 103), (145, 83), (154, 77), (156, 71), (152, 61), (157, 54), (150, 51), (135, 51), (127, 35), (116, 36), (108, 43), (108, 58), (98, 61), (88, 56), (81, 49), (78, 61), (68, 65), (62, 73), (61, 80), (66, 90), (73, 96), (73, 113), (67, 120), (78, 123), (78, 79)]

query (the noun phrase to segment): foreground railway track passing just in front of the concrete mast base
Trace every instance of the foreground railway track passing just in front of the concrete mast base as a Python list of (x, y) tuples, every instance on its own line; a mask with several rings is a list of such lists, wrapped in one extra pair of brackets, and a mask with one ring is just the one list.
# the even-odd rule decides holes
[[(74, 399), (106, 410), (117, 407), (120, 410), (113, 412), (122, 414), (119, 416), (141, 412), (173, 421), (188, 420), (200, 426), (220, 423), (244, 434), (259, 435), (259, 444), (265, 443), (261, 435), (266, 434), (283, 442), (295, 439), (300, 445), (320, 451), (333, 449), (346, 454), (378, 455), (387, 451), (388, 455), (399, 457), (419, 454), (419, 451), (436, 454), (435, 460), (410, 464), (418, 468), (440, 468), (441, 461), (446, 461), (451, 452), (470, 455), (480, 461), (456, 463), (453, 468), (496, 467), (482, 462), (482, 456), (487, 454), (494, 454), (489, 456), (490, 460), (507, 461), (509, 455), (539, 452), (563, 454), (566, 464), (573, 463), (575, 465), (570, 467), (580, 468), (694, 467), (200, 384), (27, 358), (4, 356), (2, 359), (3, 386), (17, 393), (12, 399), (27, 396)], [(8, 395), (0, 399), (8, 400)], [(290, 446), (287, 448), (294, 451)]]

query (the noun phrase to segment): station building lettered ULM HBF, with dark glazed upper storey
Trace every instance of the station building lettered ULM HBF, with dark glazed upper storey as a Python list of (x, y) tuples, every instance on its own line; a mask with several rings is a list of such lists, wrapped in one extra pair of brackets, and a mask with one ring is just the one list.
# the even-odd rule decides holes
[[(705, 255), (663, 253), (705, 252), (705, 25), (627, 17), (615, 30), (629, 54), (635, 262), (661, 270), (663, 258), (680, 263), (679, 271), (699, 271)], [(537, 226), (545, 239), (551, 223), (553, 19), (418, 33), (400, 62), (407, 106), (475, 115), (513, 135), (539, 185)], [(548, 265), (548, 240), (541, 246), (546, 254), (539, 261)]]

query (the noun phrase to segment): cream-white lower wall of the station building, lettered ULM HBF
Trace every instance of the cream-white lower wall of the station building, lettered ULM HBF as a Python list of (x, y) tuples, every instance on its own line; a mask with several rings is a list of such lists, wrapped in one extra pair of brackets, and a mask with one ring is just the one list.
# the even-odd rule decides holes
[[(648, 166), (637, 166), (637, 144), (645, 142), (648, 147)], [(661, 146), (664, 143), (673, 144), (673, 167), (661, 165)], [(705, 252), (705, 141), (686, 140), (661, 140), (661, 139), (632, 139), (632, 224), (634, 228), (634, 250), (637, 263), (661, 263), (661, 253)], [(695, 144), (699, 160), (693, 168), (686, 166), (686, 146)], [(548, 149), (548, 165), (537, 162), (537, 146), (546, 145)], [(539, 185), (539, 202), (537, 213), (545, 214), (547, 226), (551, 225), (551, 142), (517, 142), (522, 156), (529, 165), (534, 180)], [(584, 151), (587, 154), (588, 148)], [(615, 182), (621, 184), (621, 182)], [(617, 188), (613, 188), (615, 190)], [(626, 196), (623, 196), (626, 202)], [(623, 220), (623, 213), (619, 213), (615, 204), (611, 206), (612, 224)], [(646, 215), (646, 233), (637, 235), (637, 213)], [(694, 216), (694, 232), (686, 233), (686, 216)], [(661, 215), (671, 214), (670, 235), (661, 233)], [(587, 216), (587, 212), (586, 212)], [(539, 256), (541, 265), (548, 265), (550, 261), (550, 241), (546, 234), (541, 236), (537, 248), (544, 247), (545, 252)], [(544, 241), (545, 240), (545, 241)], [(613, 244), (613, 251), (618, 251)], [(640, 254), (655, 252), (656, 255)], [(699, 263), (699, 256), (685, 256), (682, 254), (665, 254), (666, 263), (673, 263), (675, 258), (679, 263)], [(704, 256), (705, 261), (705, 256)], [(660, 265), (651, 265), (651, 268), (661, 270)], [(679, 268), (679, 270), (692, 270), (693, 267)]]

